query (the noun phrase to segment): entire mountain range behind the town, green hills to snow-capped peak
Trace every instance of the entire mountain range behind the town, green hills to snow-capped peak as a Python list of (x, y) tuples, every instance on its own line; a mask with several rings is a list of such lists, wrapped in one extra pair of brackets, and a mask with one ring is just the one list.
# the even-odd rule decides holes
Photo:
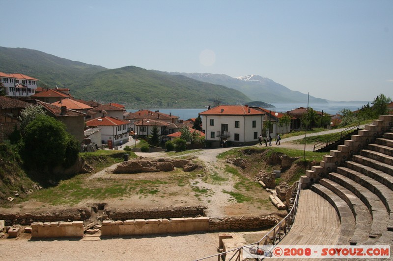
[[(268, 78), (249, 75), (179, 73), (145, 70), (135, 66), (107, 69), (60, 58), (27, 48), (0, 47), (0, 71), (24, 73), (39, 79), (41, 87), (70, 88), (77, 98), (117, 102), (128, 109), (203, 108), (221, 104), (296, 103), (307, 95), (291, 91)], [(327, 103), (310, 96), (310, 100)]]

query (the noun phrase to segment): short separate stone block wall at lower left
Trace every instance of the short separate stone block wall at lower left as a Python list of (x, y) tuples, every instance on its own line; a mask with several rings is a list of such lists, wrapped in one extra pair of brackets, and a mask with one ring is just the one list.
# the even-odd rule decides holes
[(83, 236), (84, 236), (83, 221), (31, 223), (31, 238), (83, 237)]

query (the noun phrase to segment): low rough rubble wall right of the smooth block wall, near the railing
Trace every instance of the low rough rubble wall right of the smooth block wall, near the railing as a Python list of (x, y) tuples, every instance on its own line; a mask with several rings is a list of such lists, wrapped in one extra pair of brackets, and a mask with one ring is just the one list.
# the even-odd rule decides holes
[(209, 221), (209, 231), (260, 230), (275, 226), (280, 220), (274, 216), (225, 217)]

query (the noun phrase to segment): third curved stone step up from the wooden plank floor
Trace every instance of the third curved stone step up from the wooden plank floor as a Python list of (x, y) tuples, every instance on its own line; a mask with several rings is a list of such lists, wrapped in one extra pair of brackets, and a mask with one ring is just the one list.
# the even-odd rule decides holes
[(388, 230), (387, 227), (389, 224), (389, 214), (386, 211), (385, 205), (382, 203), (382, 201), (377, 195), (372, 193), (370, 190), (367, 190), (362, 185), (341, 174), (332, 172), (328, 174), (328, 178), (338, 183), (342, 187), (352, 191), (357, 197), (362, 200), (363, 203), (365, 203), (372, 215), (370, 234), (373, 234), (376, 238), (378, 238), (382, 235), (382, 233)]

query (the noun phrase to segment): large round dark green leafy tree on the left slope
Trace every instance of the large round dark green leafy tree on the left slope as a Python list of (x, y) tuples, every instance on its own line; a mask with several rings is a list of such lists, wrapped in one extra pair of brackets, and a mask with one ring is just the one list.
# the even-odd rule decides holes
[(42, 174), (50, 172), (55, 166), (70, 165), (78, 158), (76, 145), (79, 148), (79, 142), (75, 142), (75, 138), (66, 132), (64, 123), (46, 115), (39, 115), (28, 123), (23, 140), (25, 165)]

